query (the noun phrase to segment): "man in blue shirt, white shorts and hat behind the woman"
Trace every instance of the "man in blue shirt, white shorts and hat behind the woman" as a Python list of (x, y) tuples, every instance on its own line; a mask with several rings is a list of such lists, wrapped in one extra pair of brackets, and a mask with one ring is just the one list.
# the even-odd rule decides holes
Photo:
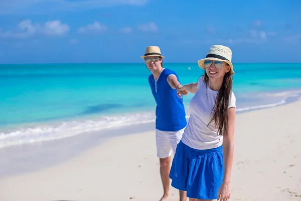
[[(157, 103), (156, 145), (164, 189), (160, 200), (164, 201), (169, 199), (171, 156), (175, 154), (177, 144), (187, 125), (183, 99), (177, 92), (182, 85), (174, 71), (163, 67), (164, 56), (161, 55), (158, 46), (148, 46), (141, 58), (148, 70), (152, 72), (148, 77), (148, 82)], [(186, 191), (180, 190), (180, 200), (186, 199)]]

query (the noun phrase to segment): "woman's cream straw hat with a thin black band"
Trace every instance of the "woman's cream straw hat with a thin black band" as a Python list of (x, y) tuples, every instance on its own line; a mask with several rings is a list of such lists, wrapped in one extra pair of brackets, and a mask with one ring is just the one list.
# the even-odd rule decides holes
[(224, 61), (230, 65), (231, 74), (234, 75), (232, 60), (232, 51), (230, 48), (223, 45), (213, 45), (210, 47), (205, 59), (198, 60), (200, 68), (205, 69), (205, 60)]

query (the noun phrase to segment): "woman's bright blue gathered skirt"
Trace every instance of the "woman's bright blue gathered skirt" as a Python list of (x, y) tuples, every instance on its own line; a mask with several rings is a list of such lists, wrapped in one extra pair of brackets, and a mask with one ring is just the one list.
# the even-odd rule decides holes
[(170, 171), (173, 187), (190, 198), (217, 199), (223, 176), (222, 146), (198, 150), (179, 142)]

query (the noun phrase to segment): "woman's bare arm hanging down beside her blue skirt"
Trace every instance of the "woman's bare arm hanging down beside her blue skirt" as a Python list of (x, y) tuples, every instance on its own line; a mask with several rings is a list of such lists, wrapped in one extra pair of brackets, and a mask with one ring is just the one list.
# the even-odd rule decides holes
[(228, 135), (223, 136), (223, 155), (224, 155), (224, 178), (218, 193), (218, 200), (228, 200), (230, 197), (231, 170), (234, 152), (234, 124), (235, 108), (229, 108), (228, 111)]

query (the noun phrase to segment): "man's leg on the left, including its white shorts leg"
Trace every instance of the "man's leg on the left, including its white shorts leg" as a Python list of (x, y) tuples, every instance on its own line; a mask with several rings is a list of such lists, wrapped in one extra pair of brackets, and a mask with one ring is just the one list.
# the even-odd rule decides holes
[(157, 156), (160, 158), (160, 175), (163, 184), (163, 196), (161, 201), (169, 199), (170, 190), (170, 163), (171, 155), (173, 150), (168, 139), (168, 132), (156, 130), (156, 145), (157, 145)]

